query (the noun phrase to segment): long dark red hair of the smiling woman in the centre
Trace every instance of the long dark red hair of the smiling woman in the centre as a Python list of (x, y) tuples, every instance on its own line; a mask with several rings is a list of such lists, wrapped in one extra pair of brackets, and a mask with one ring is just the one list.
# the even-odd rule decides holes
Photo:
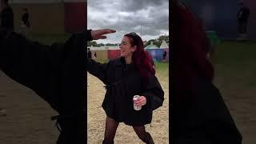
[(132, 55), (132, 61), (135, 63), (142, 77), (149, 78), (150, 74), (155, 74), (154, 61), (150, 54), (144, 50), (142, 38), (135, 33), (125, 34), (125, 36), (130, 39), (131, 46), (137, 46)]

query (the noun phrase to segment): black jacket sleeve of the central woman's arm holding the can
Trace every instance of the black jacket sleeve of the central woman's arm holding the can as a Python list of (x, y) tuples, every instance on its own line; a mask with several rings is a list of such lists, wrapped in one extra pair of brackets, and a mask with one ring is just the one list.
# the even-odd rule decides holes
[(142, 94), (140, 95), (146, 97), (146, 105), (149, 106), (150, 110), (156, 110), (158, 107), (162, 106), (162, 102), (164, 101), (164, 91), (158, 82), (158, 78), (151, 75), (146, 88), (142, 90)]

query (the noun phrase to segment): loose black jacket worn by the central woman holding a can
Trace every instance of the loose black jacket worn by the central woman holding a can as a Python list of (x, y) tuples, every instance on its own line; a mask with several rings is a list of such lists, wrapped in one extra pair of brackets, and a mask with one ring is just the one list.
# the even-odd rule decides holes
[[(106, 115), (116, 122), (130, 126), (143, 126), (151, 122), (152, 111), (162, 106), (164, 92), (158, 78), (153, 74), (145, 81), (135, 65), (126, 64), (124, 58), (116, 58), (107, 63), (90, 59), (87, 70), (106, 85), (106, 95), (102, 107)], [(146, 97), (142, 110), (134, 110), (134, 95)]]

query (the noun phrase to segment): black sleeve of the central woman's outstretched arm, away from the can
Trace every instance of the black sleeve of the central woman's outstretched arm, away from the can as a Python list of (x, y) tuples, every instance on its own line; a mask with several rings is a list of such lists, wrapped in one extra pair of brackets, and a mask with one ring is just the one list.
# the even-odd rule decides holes
[(100, 79), (103, 83), (107, 83), (107, 74), (106, 71), (110, 62), (107, 63), (100, 63), (96, 62), (93, 59), (87, 59), (87, 67), (86, 70), (98, 79)]

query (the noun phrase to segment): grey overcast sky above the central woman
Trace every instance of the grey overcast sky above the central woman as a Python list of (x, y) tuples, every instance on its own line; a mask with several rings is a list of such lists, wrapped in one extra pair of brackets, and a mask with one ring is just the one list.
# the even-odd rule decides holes
[(97, 43), (119, 43), (124, 34), (141, 34), (142, 40), (169, 35), (169, 0), (87, 0), (87, 28), (117, 30)]

